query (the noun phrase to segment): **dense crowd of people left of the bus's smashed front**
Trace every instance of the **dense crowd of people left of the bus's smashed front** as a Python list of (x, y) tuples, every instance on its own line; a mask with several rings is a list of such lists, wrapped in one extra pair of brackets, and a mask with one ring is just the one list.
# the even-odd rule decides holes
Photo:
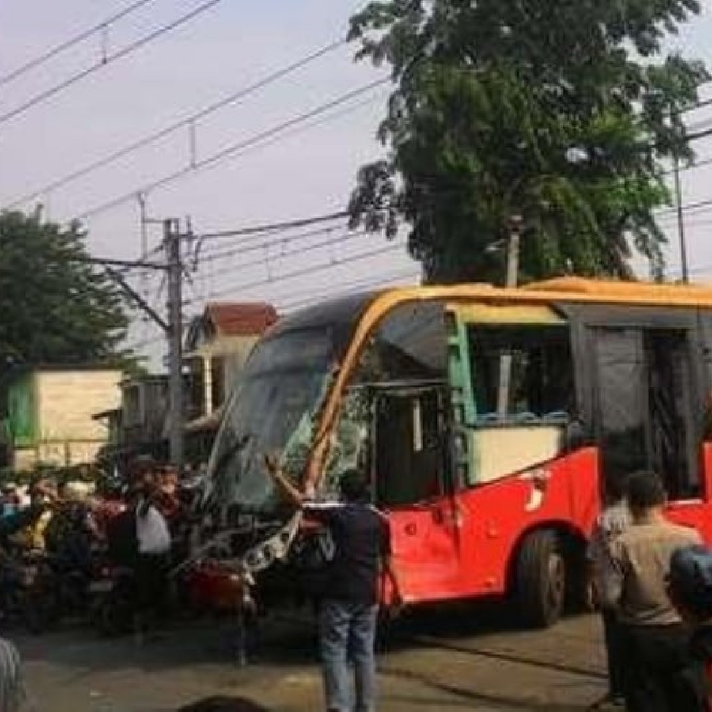
[[(171, 554), (188, 508), (181, 495), (174, 468), (150, 458), (132, 464), (121, 491), (44, 479), (23, 491), (6, 486), (0, 500), (0, 616), (11, 614), (16, 569), (32, 557), (59, 582), (77, 582), (83, 604), (100, 570), (129, 570), (137, 629), (145, 628), (163, 606)], [(61, 589), (53, 586), (48, 594)]]

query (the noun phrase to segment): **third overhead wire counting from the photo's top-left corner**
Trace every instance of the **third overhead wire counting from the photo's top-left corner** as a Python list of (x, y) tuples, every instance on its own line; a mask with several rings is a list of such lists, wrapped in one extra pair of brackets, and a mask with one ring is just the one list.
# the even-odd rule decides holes
[[(147, 0), (144, 0), (147, 1)], [(26, 193), (23, 196), (14, 199), (11, 201), (8, 205), (9, 208), (14, 208), (17, 207), (23, 203), (26, 203), (27, 201), (32, 200), (33, 198), (40, 197), (43, 194), (52, 192), (58, 188), (64, 187), (80, 178), (83, 178), (85, 176), (88, 176), (89, 174), (97, 171), (98, 169), (105, 168), (106, 166), (117, 162), (119, 159), (130, 155), (142, 148), (145, 148), (147, 146), (150, 146), (154, 144), (155, 142), (171, 135), (172, 133), (176, 132), (179, 129), (186, 128), (186, 127), (192, 127), (196, 124), (201, 119), (204, 119), (205, 117), (213, 114), (214, 112), (226, 108), (231, 104), (234, 104), (238, 102), (241, 99), (247, 98), (249, 95), (254, 94), (258, 92), (258, 90), (261, 90), (265, 88), (266, 86), (277, 82), (280, 79), (283, 79), (287, 77), (288, 75), (304, 68), (305, 66), (308, 66), (310, 63), (313, 63), (317, 61), (318, 59), (322, 58), (326, 54), (334, 51), (336, 48), (342, 46), (344, 41), (336, 41), (332, 42), (326, 46), (323, 46), (322, 48), (309, 53), (308, 55), (304, 56), (303, 58), (299, 59), (296, 62), (293, 62), (287, 66), (284, 66), (281, 69), (278, 69), (260, 80), (247, 85), (245, 87), (240, 88), (239, 90), (235, 91), (234, 93), (231, 93), (224, 98), (211, 103), (207, 105), (206, 107), (198, 110), (197, 112), (194, 112), (193, 114), (184, 117), (177, 122), (172, 123), (169, 126), (166, 126), (150, 135), (147, 135), (143, 137), (140, 140), (137, 140), (135, 142), (132, 142), (119, 150), (116, 150), (109, 155), (104, 156), (103, 158), (100, 158), (96, 161), (93, 161), (89, 164), (86, 164), (82, 168), (67, 174), (66, 176), (63, 176), (51, 183), (48, 183), (47, 185), (35, 189), (32, 192)]]

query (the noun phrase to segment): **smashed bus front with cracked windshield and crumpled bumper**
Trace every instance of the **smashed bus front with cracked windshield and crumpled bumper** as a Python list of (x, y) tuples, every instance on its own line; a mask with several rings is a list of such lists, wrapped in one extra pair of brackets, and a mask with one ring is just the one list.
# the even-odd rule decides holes
[[(201, 498), (209, 526), (198, 553), (209, 563), (194, 572), (192, 590), (206, 605), (228, 607), (224, 600), (243, 589), (236, 568), (250, 579), (270, 570), (261, 582), (283, 572), (271, 569), (277, 560), (285, 567), (299, 517), (279, 500), (263, 456), (279, 454), (284, 471), (304, 486), (320, 417), (371, 298), (336, 300), (285, 318), (251, 354), (226, 408)], [(354, 421), (350, 431), (345, 426), (332, 443), (325, 488), (348, 466), (365, 464), (365, 422)]]

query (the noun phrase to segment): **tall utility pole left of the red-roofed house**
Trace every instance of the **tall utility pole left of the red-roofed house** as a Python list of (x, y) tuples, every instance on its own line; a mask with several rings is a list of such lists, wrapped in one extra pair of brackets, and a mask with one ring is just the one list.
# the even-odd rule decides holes
[(174, 467), (183, 466), (183, 263), (182, 235), (176, 219), (164, 220), (163, 239), (168, 270), (169, 442)]

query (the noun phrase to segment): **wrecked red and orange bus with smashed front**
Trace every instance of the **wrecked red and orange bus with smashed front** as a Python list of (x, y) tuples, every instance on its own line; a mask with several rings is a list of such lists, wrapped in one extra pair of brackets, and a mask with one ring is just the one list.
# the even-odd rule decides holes
[(316, 496), (366, 468), (409, 602), (507, 595), (523, 622), (552, 624), (582, 593), (610, 478), (659, 471), (670, 517), (712, 540), (711, 347), (712, 289), (693, 286), (560, 278), (326, 302), (254, 350), (206, 502), (261, 570), (294, 535), (261, 454)]

